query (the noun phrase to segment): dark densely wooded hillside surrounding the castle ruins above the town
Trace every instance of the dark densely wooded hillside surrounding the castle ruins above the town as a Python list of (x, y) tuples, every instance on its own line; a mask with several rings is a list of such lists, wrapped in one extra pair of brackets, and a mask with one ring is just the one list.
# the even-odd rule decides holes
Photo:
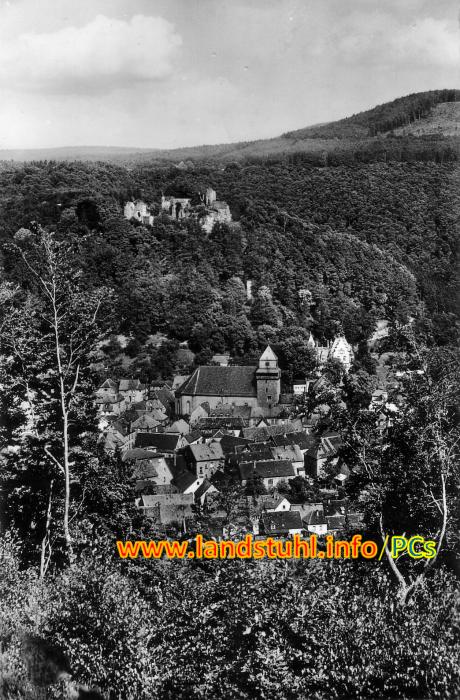
[[(78, 241), (88, 285), (114, 289), (114, 331), (140, 341), (160, 330), (195, 351), (210, 343), (243, 356), (299, 326), (324, 340), (340, 321), (359, 342), (378, 318), (412, 315), (445, 343), (456, 309), (457, 181), (453, 165), (318, 168), (300, 156), (185, 172), (35, 163), (0, 174), (1, 236), (38, 221)], [(129, 198), (155, 208), (162, 191), (196, 197), (209, 185), (237, 225), (208, 236), (191, 220), (145, 227), (122, 216)]]

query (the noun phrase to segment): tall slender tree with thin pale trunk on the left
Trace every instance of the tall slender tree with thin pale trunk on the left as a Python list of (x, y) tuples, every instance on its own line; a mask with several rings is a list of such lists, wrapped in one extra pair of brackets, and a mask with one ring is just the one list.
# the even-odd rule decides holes
[(75, 428), (87, 410), (90, 353), (108, 294), (85, 289), (69, 246), (40, 227), (18, 231), (11, 250), (28, 274), (28, 290), (16, 289), (3, 304), (1, 350), (9, 353), (10, 384), (27, 405), (28, 428), (64, 482), (62, 527), (71, 556), (73, 457), (81, 450)]

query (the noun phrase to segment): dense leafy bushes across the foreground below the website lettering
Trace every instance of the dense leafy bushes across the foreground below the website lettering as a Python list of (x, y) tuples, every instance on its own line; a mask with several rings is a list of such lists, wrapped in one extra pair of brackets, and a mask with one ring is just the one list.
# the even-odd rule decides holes
[(442, 569), (401, 608), (377, 562), (121, 562), (101, 547), (39, 582), (8, 537), (0, 558), (2, 697), (28, 697), (25, 631), (61, 646), (76, 680), (113, 699), (460, 691), (459, 598)]

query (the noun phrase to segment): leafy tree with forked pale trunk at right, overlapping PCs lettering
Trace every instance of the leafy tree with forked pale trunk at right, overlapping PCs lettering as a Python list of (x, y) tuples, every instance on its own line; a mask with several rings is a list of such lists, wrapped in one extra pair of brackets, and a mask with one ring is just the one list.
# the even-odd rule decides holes
[[(456, 405), (460, 361), (453, 350), (421, 348), (408, 332), (411, 353), (400, 370), (397, 406), (384, 409), (386, 427), (372, 411), (342, 411), (342, 455), (352, 468), (349, 495), (359, 497), (368, 527), (380, 533), (402, 605), (414, 595), (443, 549), (458, 540)], [(390, 402), (393, 397), (390, 396)], [(433, 558), (393, 559), (393, 535), (435, 542)]]

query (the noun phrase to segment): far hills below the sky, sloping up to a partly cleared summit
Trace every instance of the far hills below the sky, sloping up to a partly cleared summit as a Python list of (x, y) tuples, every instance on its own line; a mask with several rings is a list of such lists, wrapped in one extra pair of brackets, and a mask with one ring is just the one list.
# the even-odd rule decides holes
[[(197, 162), (216, 166), (248, 159), (287, 159), (304, 154), (314, 165), (375, 161), (459, 159), (459, 90), (432, 90), (400, 97), (346, 119), (297, 129), (258, 141), (205, 144), (174, 149), (76, 146), (0, 150), (0, 161), (110, 161), (136, 167), (155, 162), (185, 167)], [(1, 163), (0, 163), (1, 166)]]

